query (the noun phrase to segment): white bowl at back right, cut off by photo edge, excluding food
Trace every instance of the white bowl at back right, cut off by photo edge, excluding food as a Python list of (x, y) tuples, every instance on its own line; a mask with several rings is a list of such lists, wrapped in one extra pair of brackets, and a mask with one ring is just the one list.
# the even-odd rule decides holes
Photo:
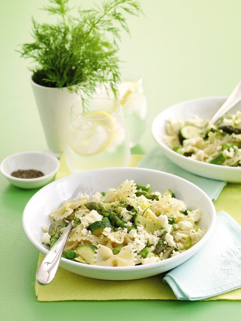
[[(179, 167), (202, 177), (222, 180), (232, 183), (241, 182), (241, 167), (229, 167), (205, 163), (174, 152), (163, 140), (166, 134), (168, 118), (185, 120), (194, 115), (202, 119), (211, 118), (221, 107), (227, 97), (206, 97), (182, 101), (160, 112), (152, 122), (152, 135), (164, 154)], [(241, 102), (230, 112), (241, 110)]]

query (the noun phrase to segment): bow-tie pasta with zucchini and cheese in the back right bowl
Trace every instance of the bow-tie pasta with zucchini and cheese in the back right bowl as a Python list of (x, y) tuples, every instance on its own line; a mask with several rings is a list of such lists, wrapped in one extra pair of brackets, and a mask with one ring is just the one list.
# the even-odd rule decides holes
[(241, 112), (225, 115), (215, 124), (198, 116), (168, 119), (164, 142), (175, 152), (202, 162), (241, 166)]

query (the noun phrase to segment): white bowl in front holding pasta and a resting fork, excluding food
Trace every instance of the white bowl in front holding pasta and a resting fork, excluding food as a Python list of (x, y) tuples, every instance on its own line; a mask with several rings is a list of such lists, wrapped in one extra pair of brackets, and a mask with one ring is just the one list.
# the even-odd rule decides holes
[(175, 193), (177, 199), (185, 202), (188, 208), (200, 208), (202, 218), (198, 224), (205, 230), (202, 239), (180, 255), (157, 263), (130, 267), (106, 267), (87, 265), (61, 258), (60, 266), (62, 268), (102, 280), (141, 279), (166, 272), (184, 263), (209, 239), (215, 226), (216, 211), (208, 195), (183, 178), (157, 170), (141, 168), (95, 169), (75, 173), (43, 187), (30, 199), (23, 212), (22, 223), (27, 237), (41, 253), (46, 255), (49, 248), (41, 244), (43, 235), (41, 225), (48, 226), (50, 224), (49, 213), (59, 208), (63, 201), (71, 198), (79, 190), (81, 184), (97, 187), (97, 190), (102, 192), (107, 191), (110, 187), (117, 188), (125, 179), (133, 179), (142, 185), (150, 184), (153, 190), (160, 192), (169, 188)]

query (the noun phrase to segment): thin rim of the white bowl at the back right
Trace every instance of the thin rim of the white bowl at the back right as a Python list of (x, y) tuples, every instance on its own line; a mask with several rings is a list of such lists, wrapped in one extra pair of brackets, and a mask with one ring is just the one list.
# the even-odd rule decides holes
[[(170, 106), (170, 107), (168, 107), (168, 108), (166, 108), (166, 109), (164, 109), (165, 111), (166, 110), (168, 110), (168, 109), (171, 109), (171, 108), (174, 108), (174, 107), (176, 107), (176, 106), (178, 106), (180, 103), (184, 103), (184, 102), (195, 102), (195, 101), (197, 101), (197, 100), (210, 100), (210, 99), (213, 99), (213, 100), (216, 100), (216, 99), (227, 99), (228, 97), (226, 97), (226, 96), (211, 96), (211, 97), (201, 97), (201, 98), (195, 98), (195, 99), (190, 99), (190, 100), (184, 100), (184, 101), (181, 101), (181, 102), (179, 102), (179, 103), (177, 103), (177, 104), (175, 104), (175, 105), (172, 105), (172, 106)], [(164, 111), (163, 110), (163, 111)], [(159, 116), (159, 114), (155, 117), (155, 119), (157, 118)], [(152, 136), (153, 136), (153, 138), (156, 140), (156, 138), (155, 138), (155, 136), (154, 136), (154, 134), (153, 134), (153, 128), (154, 128), (154, 126), (155, 126), (155, 119), (154, 119), (154, 121), (152, 122), (152, 125), (151, 125), (151, 132), (152, 132)], [(200, 160), (194, 160), (194, 159), (192, 159), (192, 158), (190, 158), (190, 157), (186, 157), (186, 156), (184, 156), (184, 155), (181, 155), (181, 154), (179, 154), (179, 153), (177, 153), (177, 152), (175, 152), (175, 151), (173, 151), (170, 147), (168, 147), (162, 140), (158, 140), (158, 143), (159, 143), (159, 145), (160, 145), (160, 147), (162, 147), (163, 149), (165, 149), (165, 150), (168, 150), (168, 152), (170, 152), (170, 153), (172, 153), (173, 155), (175, 155), (177, 158), (180, 158), (180, 159), (183, 159), (183, 158), (185, 158), (185, 160), (187, 161), (187, 162), (191, 162), (191, 163), (196, 163), (196, 164), (198, 164), (198, 165), (200, 165), (200, 166), (208, 166), (208, 167), (212, 167), (213, 169), (214, 168), (218, 168), (218, 169), (220, 169), (220, 167), (221, 167), (221, 165), (216, 165), (216, 164), (210, 164), (210, 163), (206, 163), (206, 162), (202, 162), (202, 161), (200, 161)], [(239, 167), (232, 167), (232, 166), (225, 166), (225, 170), (229, 170), (229, 171), (239, 171), (239, 170), (241, 170), (241, 168), (239, 168)]]

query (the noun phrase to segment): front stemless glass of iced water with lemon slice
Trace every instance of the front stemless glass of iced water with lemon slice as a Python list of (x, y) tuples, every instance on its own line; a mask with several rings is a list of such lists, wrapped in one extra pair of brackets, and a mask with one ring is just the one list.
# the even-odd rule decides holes
[(129, 164), (129, 140), (119, 102), (93, 98), (85, 112), (81, 101), (72, 106), (65, 160), (72, 173)]

